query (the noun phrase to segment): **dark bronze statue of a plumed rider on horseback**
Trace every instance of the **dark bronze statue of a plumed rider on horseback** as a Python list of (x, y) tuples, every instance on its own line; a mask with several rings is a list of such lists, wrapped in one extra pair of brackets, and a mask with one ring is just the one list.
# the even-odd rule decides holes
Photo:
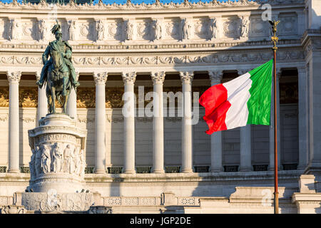
[[(56, 40), (49, 42), (42, 55), (44, 67), (41, 70), (41, 76), (36, 84), (39, 88), (46, 86), (46, 96), (49, 105), (49, 113), (56, 113), (56, 99), (62, 105), (62, 113), (66, 114), (67, 102), (71, 88), (76, 91), (79, 82), (76, 80), (75, 68), (71, 62), (72, 48), (67, 41), (62, 40), (61, 26), (56, 24), (51, 28)], [(50, 58), (49, 58), (50, 56)], [(49, 58), (49, 59), (48, 59)], [(63, 97), (63, 102), (61, 101)]]

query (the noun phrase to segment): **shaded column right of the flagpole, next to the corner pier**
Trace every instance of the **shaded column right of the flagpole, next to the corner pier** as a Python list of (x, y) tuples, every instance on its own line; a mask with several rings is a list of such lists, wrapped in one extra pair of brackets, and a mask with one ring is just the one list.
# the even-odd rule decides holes
[(307, 167), (307, 68), (297, 68), (299, 90), (299, 164), (297, 169)]

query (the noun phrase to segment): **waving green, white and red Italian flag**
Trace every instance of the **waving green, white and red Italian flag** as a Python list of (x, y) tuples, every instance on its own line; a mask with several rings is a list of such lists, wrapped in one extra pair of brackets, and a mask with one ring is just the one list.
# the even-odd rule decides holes
[(273, 60), (200, 96), (208, 135), (248, 124), (270, 125)]

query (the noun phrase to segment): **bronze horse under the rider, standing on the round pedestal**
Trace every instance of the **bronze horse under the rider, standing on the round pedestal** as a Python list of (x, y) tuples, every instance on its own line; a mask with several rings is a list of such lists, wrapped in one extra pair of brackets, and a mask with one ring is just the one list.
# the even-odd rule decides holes
[[(58, 47), (51, 46), (50, 55), (53, 63), (48, 68), (46, 95), (48, 98), (49, 113), (56, 113), (56, 99), (62, 105), (62, 113), (66, 113), (67, 102), (71, 91), (68, 66), (63, 60), (62, 52)], [(63, 102), (61, 102), (61, 96)]]

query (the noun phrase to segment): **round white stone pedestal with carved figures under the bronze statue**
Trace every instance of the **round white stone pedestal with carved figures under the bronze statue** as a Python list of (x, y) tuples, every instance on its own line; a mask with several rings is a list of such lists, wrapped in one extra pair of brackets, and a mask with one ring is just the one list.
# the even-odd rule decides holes
[(33, 192), (81, 192), (86, 167), (86, 130), (65, 114), (49, 114), (28, 131), (33, 155), (29, 163)]

